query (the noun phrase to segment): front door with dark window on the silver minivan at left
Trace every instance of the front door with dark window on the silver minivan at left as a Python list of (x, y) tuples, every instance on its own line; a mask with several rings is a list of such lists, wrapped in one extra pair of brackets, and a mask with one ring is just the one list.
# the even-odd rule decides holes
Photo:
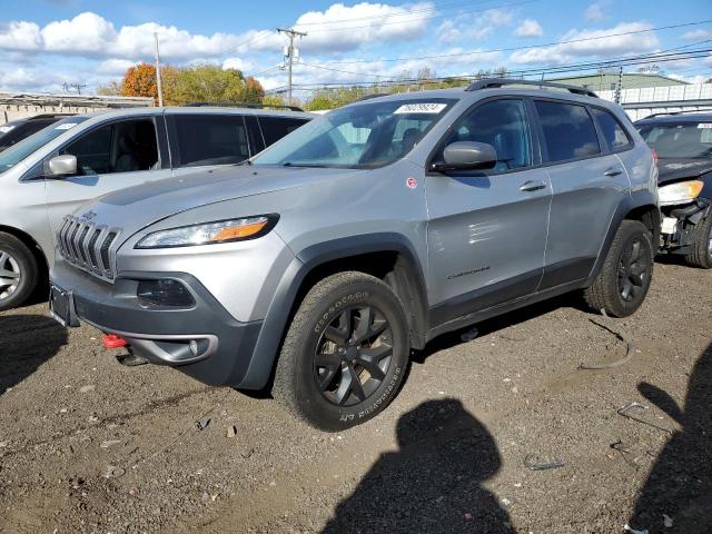
[(162, 117), (152, 116), (103, 122), (68, 141), (56, 154), (76, 156), (78, 172), (48, 179), (44, 188), (53, 238), (65, 215), (80, 205), (118, 189), (170, 178), (165, 147)]

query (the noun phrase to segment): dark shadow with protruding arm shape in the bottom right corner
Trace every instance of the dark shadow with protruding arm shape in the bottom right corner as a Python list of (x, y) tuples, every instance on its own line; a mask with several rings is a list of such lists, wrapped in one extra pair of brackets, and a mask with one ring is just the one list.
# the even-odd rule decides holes
[[(631, 526), (650, 534), (712, 532), (712, 345), (694, 365), (683, 407), (654, 385), (641, 383), (637, 388), (682, 429), (655, 459)], [(665, 526), (663, 514), (672, 526)]]

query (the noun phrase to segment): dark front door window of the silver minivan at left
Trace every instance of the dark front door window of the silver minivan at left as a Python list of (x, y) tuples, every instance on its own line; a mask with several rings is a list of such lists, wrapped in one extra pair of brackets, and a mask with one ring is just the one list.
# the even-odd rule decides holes
[(158, 165), (156, 127), (150, 119), (122, 120), (99, 127), (65, 147), (77, 157), (78, 175), (151, 170)]

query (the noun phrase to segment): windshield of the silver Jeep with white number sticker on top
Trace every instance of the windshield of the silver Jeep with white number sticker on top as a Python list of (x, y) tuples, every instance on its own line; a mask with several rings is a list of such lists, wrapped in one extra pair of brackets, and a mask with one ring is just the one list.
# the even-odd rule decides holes
[(347, 106), (308, 122), (251, 162), (285, 167), (383, 167), (408, 154), (454, 102), (421, 98)]

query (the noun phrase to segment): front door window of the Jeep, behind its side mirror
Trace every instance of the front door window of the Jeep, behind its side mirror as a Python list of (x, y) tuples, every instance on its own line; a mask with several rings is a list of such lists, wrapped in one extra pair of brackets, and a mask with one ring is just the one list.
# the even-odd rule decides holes
[(477, 141), (492, 145), (497, 152), (494, 171), (532, 165), (532, 141), (526, 108), (522, 100), (495, 100), (463, 116), (445, 139), (437, 158), (452, 142)]

